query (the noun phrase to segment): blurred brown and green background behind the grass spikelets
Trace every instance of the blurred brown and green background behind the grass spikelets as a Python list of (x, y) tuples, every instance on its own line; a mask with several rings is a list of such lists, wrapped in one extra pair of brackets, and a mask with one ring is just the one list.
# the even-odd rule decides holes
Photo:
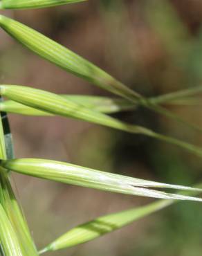
[[(89, 0), (42, 10), (3, 12), (97, 64), (145, 96), (201, 84), (202, 1)], [(0, 30), (0, 82), (55, 93), (110, 95), (42, 60)], [(198, 101), (170, 111), (202, 127)], [(202, 136), (139, 108), (113, 115), (202, 146)], [(65, 118), (9, 115), (15, 156), (52, 158), (164, 183), (202, 181), (202, 161), (152, 138)], [(13, 175), (30, 230), (42, 248), (77, 224), (152, 199)], [(181, 202), (110, 235), (46, 255), (198, 256), (201, 204)]]

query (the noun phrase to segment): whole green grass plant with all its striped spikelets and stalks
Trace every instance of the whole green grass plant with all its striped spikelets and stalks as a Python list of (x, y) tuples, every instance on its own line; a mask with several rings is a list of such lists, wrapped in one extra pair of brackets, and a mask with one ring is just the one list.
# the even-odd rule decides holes
[[(0, 8), (2, 10), (44, 8), (78, 2), (82, 1), (1, 0)], [(1, 112), (25, 116), (42, 116), (44, 118), (45, 116), (75, 118), (131, 134), (143, 134), (165, 143), (177, 145), (196, 156), (202, 156), (201, 147), (178, 138), (158, 134), (158, 132), (147, 127), (122, 122), (109, 116), (111, 113), (136, 111), (138, 107), (144, 107), (150, 111), (160, 113), (172, 121), (183, 122), (190, 128), (201, 132), (201, 127), (188, 123), (165, 107), (167, 104), (199, 104), (198, 101), (194, 100), (194, 95), (202, 91), (201, 86), (147, 98), (95, 66), (95, 64), (14, 19), (0, 15), (0, 27), (17, 42), (30, 49), (31, 52), (63, 68), (64, 71), (109, 91), (113, 95), (111, 97), (57, 95), (30, 86), (1, 84), (0, 94), (7, 98), (7, 100), (0, 102)], [(201, 198), (195, 196), (202, 190), (200, 185), (196, 188), (147, 181), (47, 159), (11, 158), (6, 153), (8, 145), (4, 134), (2, 121), (0, 121), (0, 244), (3, 256), (36, 256), (51, 250), (77, 246), (77, 244), (85, 243), (122, 228), (122, 226), (137, 221), (179, 200), (202, 201)], [(24, 214), (12, 191), (10, 185), (10, 174), (12, 172), (108, 192), (130, 194), (131, 196), (148, 196), (163, 200), (154, 201), (139, 208), (98, 217), (69, 230), (66, 234), (45, 246), (44, 249), (38, 250), (30, 235)], [(165, 192), (167, 188), (175, 190), (175, 192)], [(180, 190), (187, 190), (187, 193), (179, 193)]]

